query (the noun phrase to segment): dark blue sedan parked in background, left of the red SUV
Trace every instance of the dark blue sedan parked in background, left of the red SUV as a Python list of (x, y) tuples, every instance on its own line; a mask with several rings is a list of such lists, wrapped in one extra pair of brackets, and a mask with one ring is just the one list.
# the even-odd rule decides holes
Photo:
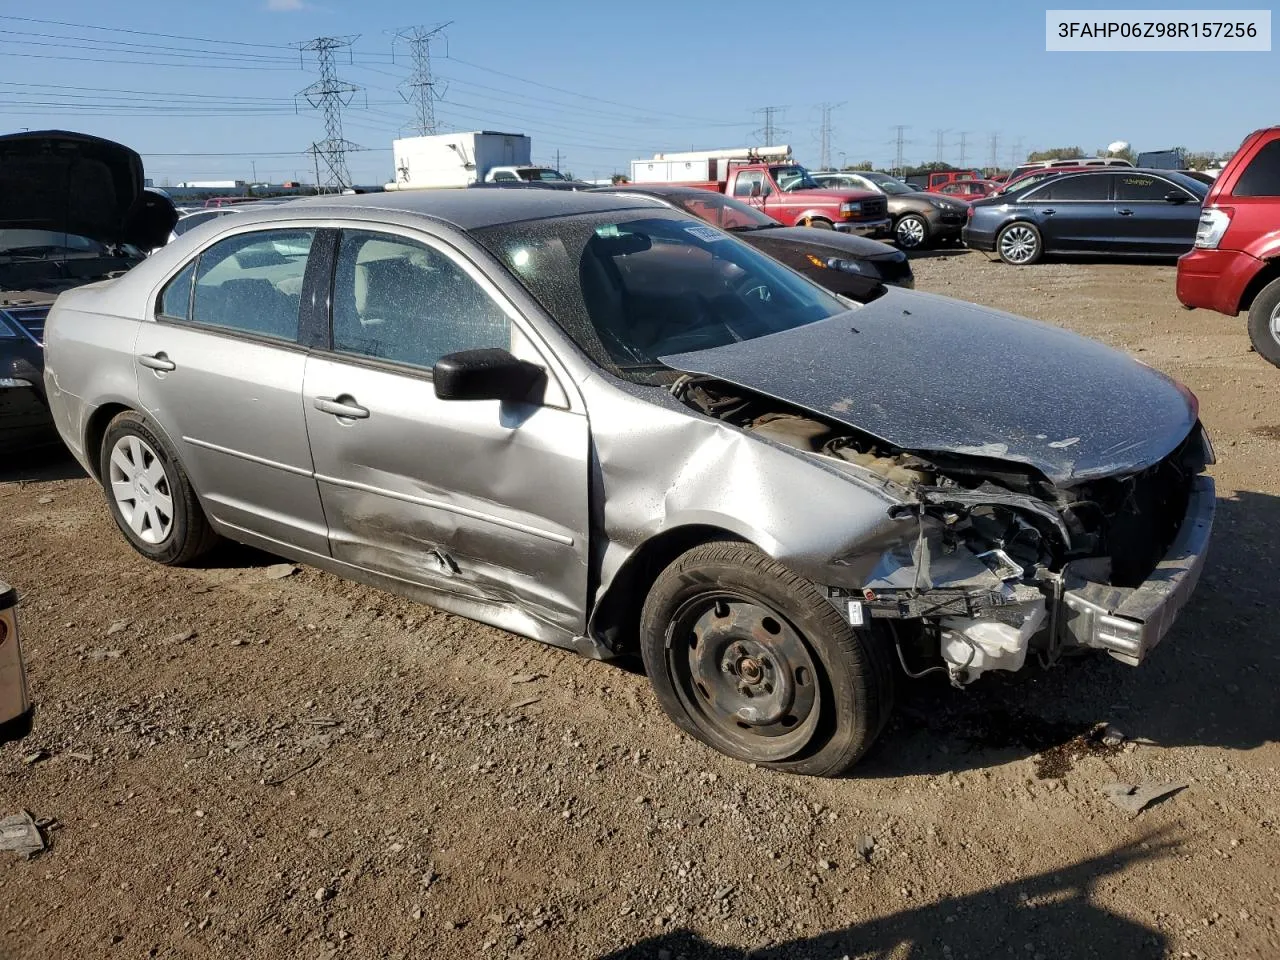
[(1098, 168), (975, 201), (964, 243), (1006, 264), (1046, 253), (1175, 257), (1192, 248), (1208, 187), (1170, 170)]

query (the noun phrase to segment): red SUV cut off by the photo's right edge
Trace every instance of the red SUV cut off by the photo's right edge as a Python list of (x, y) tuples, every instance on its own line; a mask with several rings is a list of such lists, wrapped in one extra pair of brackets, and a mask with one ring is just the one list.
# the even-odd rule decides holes
[(1280, 366), (1280, 127), (1251, 133), (1217, 175), (1196, 246), (1178, 261), (1178, 300), (1235, 316)]

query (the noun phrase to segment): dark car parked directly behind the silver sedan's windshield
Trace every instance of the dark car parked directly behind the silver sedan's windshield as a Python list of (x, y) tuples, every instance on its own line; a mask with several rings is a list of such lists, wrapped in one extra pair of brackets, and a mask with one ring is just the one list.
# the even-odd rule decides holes
[(879, 241), (815, 227), (783, 227), (740, 200), (696, 187), (626, 184), (599, 189), (664, 200), (686, 214), (741, 237), (832, 293), (852, 300), (873, 300), (884, 292), (884, 284), (915, 285), (906, 255)]

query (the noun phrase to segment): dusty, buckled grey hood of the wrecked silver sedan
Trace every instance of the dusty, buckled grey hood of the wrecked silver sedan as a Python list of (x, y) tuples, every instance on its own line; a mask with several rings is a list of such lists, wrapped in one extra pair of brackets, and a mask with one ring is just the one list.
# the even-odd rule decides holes
[(1146, 468), (1197, 420), (1185, 388), (1119, 351), (900, 289), (817, 324), (662, 362), (901, 449), (1025, 463), (1060, 485)]

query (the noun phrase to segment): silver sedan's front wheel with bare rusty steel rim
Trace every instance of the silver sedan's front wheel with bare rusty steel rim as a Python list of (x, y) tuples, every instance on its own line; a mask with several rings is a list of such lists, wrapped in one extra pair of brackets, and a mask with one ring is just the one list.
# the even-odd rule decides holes
[(774, 769), (845, 773), (892, 708), (881, 637), (850, 627), (813, 582), (751, 544), (681, 554), (649, 591), (640, 644), (676, 726)]

